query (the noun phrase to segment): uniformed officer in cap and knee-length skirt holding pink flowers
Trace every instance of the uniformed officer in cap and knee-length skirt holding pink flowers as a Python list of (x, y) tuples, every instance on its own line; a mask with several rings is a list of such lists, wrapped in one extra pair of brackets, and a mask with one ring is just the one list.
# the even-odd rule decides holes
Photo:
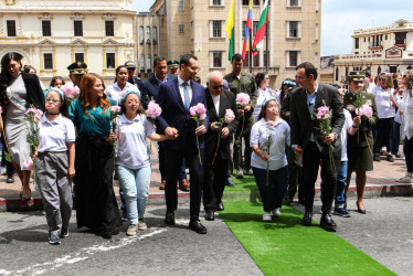
[(362, 105), (369, 105), (372, 108), (372, 117), (361, 116), (361, 125), (358, 134), (348, 136), (347, 140), (347, 156), (348, 156), (348, 172), (346, 187), (346, 205), (347, 191), (350, 187), (351, 173), (356, 171), (357, 185), (357, 211), (366, 214), (363, 200), (364, 187), (367, 182), (367, 171), (373, 170), (373, 134), (371, 127), (375, 125), (378, 119), (378, 108), (375, 106), (374, 96), (364, 89), (364, 72), (352, 71), (349, 73), (349, 92), (345, 95), (343, 107), (350, 112), (351, 117), (358, 116), (357, 109)]

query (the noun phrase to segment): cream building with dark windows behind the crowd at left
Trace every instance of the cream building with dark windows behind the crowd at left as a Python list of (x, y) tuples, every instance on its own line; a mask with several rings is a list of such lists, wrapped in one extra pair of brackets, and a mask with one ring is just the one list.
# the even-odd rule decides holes
[(47, 86), (65, 79), (67, 65), (87, 63), (107, 84), (117, 65), (136, 55), (136, 11), (131, 0), (3, 0), (0, 2), (0, 57), (23, 55)]

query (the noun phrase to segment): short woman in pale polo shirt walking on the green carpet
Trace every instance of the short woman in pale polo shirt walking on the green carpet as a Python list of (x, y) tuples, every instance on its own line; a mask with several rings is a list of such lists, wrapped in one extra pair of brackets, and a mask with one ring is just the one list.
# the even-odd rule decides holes
[(250, 146), (253, 150), (251, 167), (263, 201), (263, 221), (280, 216), (284, 194), (288, 185), (289, 126), (279, 117), (278, 100), (264, 99), (258, 121), (251, 130)]

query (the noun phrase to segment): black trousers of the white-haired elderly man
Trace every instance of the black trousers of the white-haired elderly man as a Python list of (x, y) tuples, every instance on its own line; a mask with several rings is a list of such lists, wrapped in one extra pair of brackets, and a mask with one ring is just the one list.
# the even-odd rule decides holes
[(205, 161), (203, 176), (203, 206), (205, 211), (216, 210), (225, 190), (230, 159), (222, 159), (216, 155), (215, 161)]

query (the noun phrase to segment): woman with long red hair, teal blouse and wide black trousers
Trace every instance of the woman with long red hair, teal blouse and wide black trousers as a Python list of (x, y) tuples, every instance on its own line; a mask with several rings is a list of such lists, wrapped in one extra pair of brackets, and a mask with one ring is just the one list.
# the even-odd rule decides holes
[(103, 78), (85, 74), (81, 94), (73, 100), (68, 115), (77, 128), (76, 191), (77, 227), (88, 227), (105, 238), (119, 233), (121, 220), (114, 187), (114, 142), (110, 132), (110, 106), (115, 103), (104, 93)]

